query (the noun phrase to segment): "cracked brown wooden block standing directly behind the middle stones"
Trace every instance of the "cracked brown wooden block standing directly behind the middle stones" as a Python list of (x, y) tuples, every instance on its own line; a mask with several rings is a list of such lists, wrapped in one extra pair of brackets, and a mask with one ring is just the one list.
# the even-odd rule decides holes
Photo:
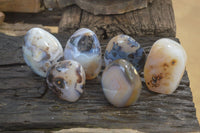
[(60, 21), (59, 32), (71, 35), (81, 27), (90, 28), (100, 39), (118, 34), (165, 37), (176, 34), (171, 0), (154, 0), (147, 8), (121, 15), (93, 15), (77, 6), (68, 7)]

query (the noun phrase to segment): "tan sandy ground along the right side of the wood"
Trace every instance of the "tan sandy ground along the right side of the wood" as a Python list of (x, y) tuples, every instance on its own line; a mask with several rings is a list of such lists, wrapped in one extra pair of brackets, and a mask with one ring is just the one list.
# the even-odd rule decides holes
[(190, 87), (200, 122), (200, 1), (199, 0), (172, 0), (175, 11), (177, 37), (185, 48), (188, 61), (186, 69), (189, 73)]

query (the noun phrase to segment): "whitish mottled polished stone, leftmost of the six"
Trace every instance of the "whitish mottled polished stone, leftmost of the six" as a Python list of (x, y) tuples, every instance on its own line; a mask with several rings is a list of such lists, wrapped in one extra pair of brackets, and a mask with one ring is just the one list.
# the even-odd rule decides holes
[(39, 76), (46, 77), (48, 68), (63, 57), (60, 42), (41, 28), (30, 29), (22, 46), (26, 64)]

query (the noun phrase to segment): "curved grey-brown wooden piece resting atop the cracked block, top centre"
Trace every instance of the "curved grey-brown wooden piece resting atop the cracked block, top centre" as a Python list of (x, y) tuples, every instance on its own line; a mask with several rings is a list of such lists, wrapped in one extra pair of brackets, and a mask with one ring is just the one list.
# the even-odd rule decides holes
[(148, 0), (76, 0), (76, 4), (83, 10), (94, 15), (123, 14), (143, 9), (148, 6)]

